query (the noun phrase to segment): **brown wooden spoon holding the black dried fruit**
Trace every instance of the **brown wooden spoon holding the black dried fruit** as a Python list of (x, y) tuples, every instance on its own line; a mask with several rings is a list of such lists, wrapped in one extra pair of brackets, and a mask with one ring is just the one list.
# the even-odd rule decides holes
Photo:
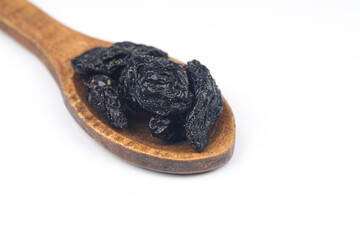
[(209, 145), (202, 153), (195, 152), (185, 141), (168, 144), (152, 137), (145, 115), (139, 118), (130, 114), (129, 127), (116, 131), (88, 104), (82, 81), (70, 64), (72, 58), (84, 51), (111, 43), (71, 30), (25, 0), (0, 0), (0, 28), (43, 61), (78, 124), (129, 163), (159, 172), (192, 174), (216, 169), (231, 158), (235, 120), (226, 100), (211, 131)]

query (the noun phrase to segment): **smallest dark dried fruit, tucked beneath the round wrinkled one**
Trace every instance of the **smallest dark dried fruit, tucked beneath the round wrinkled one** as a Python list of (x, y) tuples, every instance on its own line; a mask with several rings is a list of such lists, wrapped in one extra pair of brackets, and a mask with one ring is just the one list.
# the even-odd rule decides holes
[(149, 121), (150, 133), (166, 141), (177, 141), (185, 138), (184, 117), (182, 115), (164, 117), (153, 115)]

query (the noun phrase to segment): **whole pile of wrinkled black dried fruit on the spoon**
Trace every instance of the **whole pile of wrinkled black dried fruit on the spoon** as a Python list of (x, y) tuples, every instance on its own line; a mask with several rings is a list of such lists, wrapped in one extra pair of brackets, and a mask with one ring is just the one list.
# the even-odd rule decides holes
[(83, 74), (89, 103), (114, 128), (125, 128), (127, 107), (151, 114), (150, 132), (167, 141), (187, 139), (202, 152), (223, 99), (209, 70), (197, 60), (186, 67), (167, 53), (131, 42), (97, 47), (71, 60)]

